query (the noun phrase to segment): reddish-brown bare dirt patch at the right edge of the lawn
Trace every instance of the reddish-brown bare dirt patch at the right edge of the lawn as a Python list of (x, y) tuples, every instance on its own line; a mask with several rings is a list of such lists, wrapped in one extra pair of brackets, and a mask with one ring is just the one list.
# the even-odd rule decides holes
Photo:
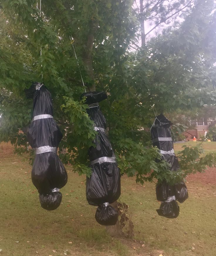
[(205, 173), (190, 174), (187, 181), (216, 185), (216, 168), (209, 167)]

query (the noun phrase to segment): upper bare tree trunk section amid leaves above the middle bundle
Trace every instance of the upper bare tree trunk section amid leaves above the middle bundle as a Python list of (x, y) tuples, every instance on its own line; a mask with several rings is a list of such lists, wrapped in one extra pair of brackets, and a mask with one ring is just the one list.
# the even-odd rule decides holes
[(92, 49), (94, 44), (94, 32), (95, 32), (95, 29), (93, 29), (93, 25), (92, 25), (92, 27), (90, 27), (90, 32), (87, 37), (85, 53), (83, 55), (83, 62), (85, 64), (85, 69), (86, 69), (87, 75), (90, 78), (90, 82), (87, 85), (89, 88), (89, 91), (95, 91), (94, 70), (92, 65)]

